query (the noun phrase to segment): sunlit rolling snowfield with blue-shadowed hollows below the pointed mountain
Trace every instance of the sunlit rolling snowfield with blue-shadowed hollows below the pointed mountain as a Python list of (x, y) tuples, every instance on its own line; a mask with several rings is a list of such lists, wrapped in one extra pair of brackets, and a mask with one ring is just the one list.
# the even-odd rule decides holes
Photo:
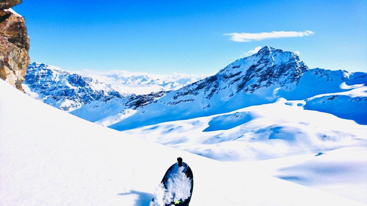
[(219, 161), (309, 154), (367, 142), (367, 126), (279, 99), (229, 113), (125, 130)]

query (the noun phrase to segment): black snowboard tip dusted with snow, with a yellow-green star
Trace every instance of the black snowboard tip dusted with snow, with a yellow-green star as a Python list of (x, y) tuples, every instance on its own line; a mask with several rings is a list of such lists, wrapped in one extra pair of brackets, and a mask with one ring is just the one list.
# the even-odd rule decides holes
[(179, 157), (164, 174), (149, 206), (188, 206), (193, 186), (191, 168)]

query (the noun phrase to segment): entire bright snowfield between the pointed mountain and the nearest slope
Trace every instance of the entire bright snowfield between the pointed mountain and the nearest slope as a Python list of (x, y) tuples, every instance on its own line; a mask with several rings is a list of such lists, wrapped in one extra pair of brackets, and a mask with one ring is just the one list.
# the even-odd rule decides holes
[(367, 203), (367, 126), (304, 104), (279, 99), (124, 132)]

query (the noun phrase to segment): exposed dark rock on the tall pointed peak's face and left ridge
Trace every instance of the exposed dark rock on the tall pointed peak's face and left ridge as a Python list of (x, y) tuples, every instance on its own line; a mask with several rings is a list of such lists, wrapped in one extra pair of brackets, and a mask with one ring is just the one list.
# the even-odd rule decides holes
[[(178, 89), (172, 96), (172, 99), (175, 101), (169, 101), (167, 104), (191, 102), (192, 100), (189, 99), (195, 99), (182, 99), (185, 96), (198, 96), (200, 94), (203, 95), (203, 99), (209, 100), (213, 95), (225, 93), (222, 96), (230, 98), (239, 92), (251, 94), (255, 90), (274, 85), (283, 87), (286, 84), (297, 84), (305, 71), (308, 71), (308, 67), (299, 60), (297, 54), (272, 47), (264, 47), (252, 56), (236, 60), (224, 69), (221, 69), (214, 76)], [(150, 96), (163, 95), (162, 93), (153, 93)], [(177, 100), (180, 98), (181, 100)], [(141, 99), (145, 100), (140, 101)], [(153, 102), (156, 102), (154, 98), (146, 98), (139, 95), (127, 102), (126, 106), (133, 106), (135, 109)], [(203, 107), (207, 108), (210, 106), (203, 105)]]

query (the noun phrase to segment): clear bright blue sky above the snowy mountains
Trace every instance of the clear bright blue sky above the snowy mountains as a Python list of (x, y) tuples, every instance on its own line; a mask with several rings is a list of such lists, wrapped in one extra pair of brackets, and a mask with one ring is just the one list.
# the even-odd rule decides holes
[[(13, 9), (26, 19), (31, 61), (66, 70), (208, 74), (269, 45), (298, 51), (309, 68), (367, 71), (365, 0), (23, 0)], [(313, 34), (224, 35), (273, 31)]]

